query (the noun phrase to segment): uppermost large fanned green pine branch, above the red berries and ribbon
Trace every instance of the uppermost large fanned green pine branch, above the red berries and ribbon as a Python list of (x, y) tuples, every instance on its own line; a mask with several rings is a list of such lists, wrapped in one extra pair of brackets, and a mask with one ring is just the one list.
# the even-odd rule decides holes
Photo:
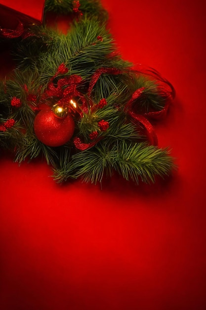
[[(60, 41), (54, 41), (52, 50), (41, 56), (41, 78), (48, 79), (54, 75), (62, 62), (69, 68), (69, 74), (89, 78), (98, 69), (105, 57), (114, 51), (111, 35), (105, 25), (95, 20), (82, 19), (75, 22), (68, 35), (58, 35)], [(97, 39), (102, 37), (103, 41)]]

